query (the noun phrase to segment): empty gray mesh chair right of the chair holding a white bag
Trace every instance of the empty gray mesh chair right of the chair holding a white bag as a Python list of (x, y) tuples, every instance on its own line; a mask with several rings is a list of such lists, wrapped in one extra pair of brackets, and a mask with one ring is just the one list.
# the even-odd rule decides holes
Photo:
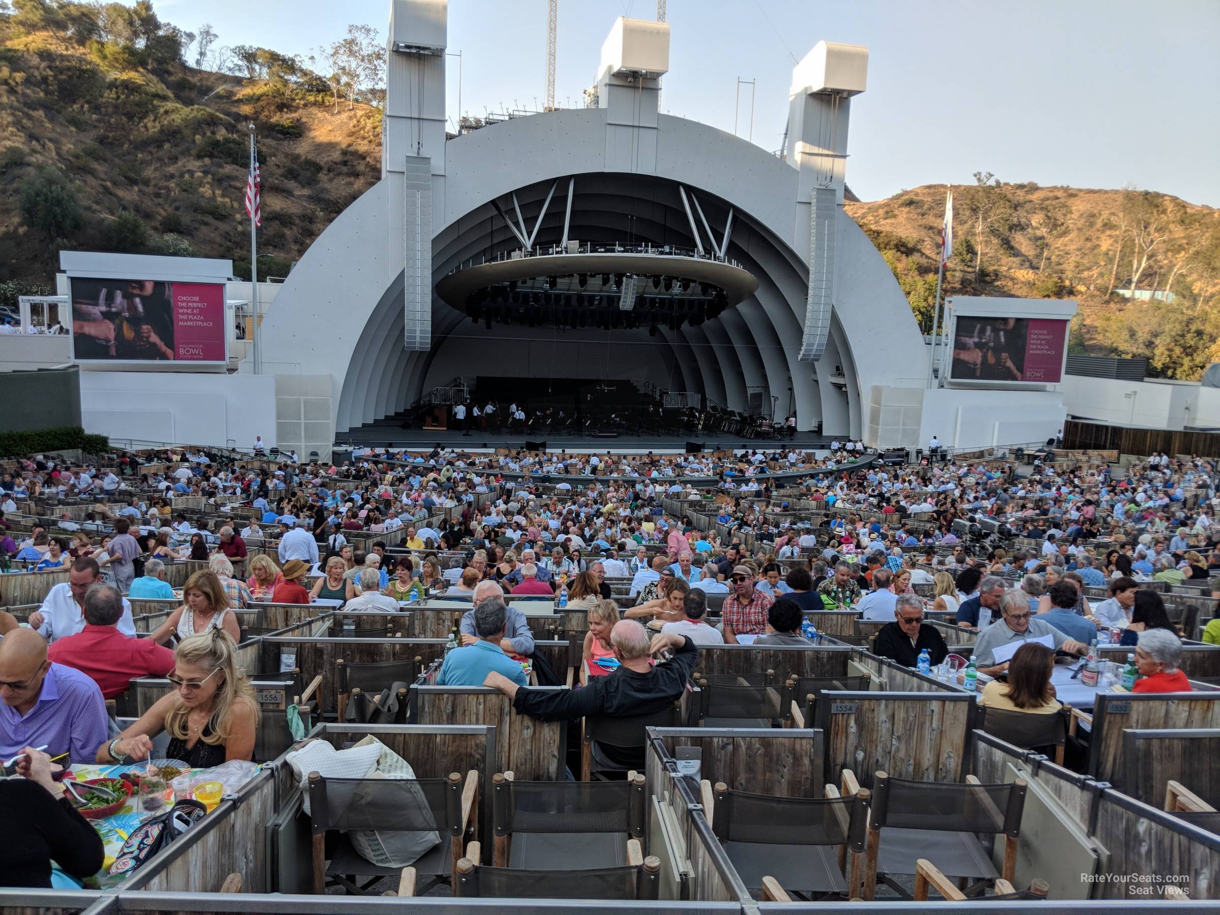
[(516, 870), (625, 866), (645, 828), (644, 778), (634, 782), (492, 780), (494, 864)]

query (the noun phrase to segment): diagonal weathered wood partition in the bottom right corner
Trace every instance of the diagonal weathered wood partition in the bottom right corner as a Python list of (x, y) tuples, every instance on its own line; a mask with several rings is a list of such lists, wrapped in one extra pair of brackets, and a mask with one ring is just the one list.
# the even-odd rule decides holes
[[(1070, 817), (1099, 850), (1102, 870), (1110, 877), (1091, 882), (1089, 898), (1114, 900), (1114, 906), (1126, 900), (1124, 911), (1128, 905), (1138, 910), (1133, 899), (1165, 911), (1171, 903), (1164, 891), (1171, 884), (1196, 904), (1220, 899), (1220, 836), (1179, 820), (1159, 809), (1160, 804), (1142, 803), (1048, 762), (1044, 756), (991, 734), (976, 734), (974, 769), (980, 781), (1009, 781), (1009, 765), (1016, 766), (1031, 784), (1036, 781), (1046, 787), (1061, 805), (1063, 816)], [(1214, 911), (1215, 906), (1199, 910)]]

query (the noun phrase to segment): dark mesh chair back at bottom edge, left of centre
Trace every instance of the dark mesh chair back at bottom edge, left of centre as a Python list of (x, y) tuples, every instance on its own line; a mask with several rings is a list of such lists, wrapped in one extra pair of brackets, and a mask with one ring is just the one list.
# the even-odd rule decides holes
[[(653, 870), (649, 870), (650, 864)], [(655, 858), (648, 858), (642, 866), (580, 871), (472, 866), (465, 871), (459, 869), (454, 895), (467, 899), (656, 899), (659, 869)]]

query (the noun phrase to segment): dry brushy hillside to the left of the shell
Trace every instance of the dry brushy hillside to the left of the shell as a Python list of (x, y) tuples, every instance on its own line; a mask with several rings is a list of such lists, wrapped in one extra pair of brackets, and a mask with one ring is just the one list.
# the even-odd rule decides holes
[[(0, 279), (46, 284), (59, 246), (232, 257), (249, 276), (250, 122), (264, 195), (260, 274), (287, 273), (379, 177), (381, 112), (336, 106), (307, 71), (244, 79), (123, 50), (0, 17)], [(54, 242), (21, 207), (22, 187), (46, 170), (81, 210)]]

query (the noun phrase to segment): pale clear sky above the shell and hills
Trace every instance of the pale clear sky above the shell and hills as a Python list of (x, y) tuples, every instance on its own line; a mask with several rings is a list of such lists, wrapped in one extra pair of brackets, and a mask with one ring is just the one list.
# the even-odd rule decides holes
[[(349, 23), (384, 35), (389, 20), (388, 0), (154, 5), (182, 28), (212, 23), (221, 44), (303, 55)], [(655, 0), (560, 0), (556, 102), (583, 104), (617, 16), (655, 11)], [(769, 150), (783, 135), (793, 59), (822, 39), (866, 45), (847, 170), (865, 200), (991, 171), (1220, 206), (1218, 0), (669, 0), (666, 18), (662, 110), (732, 131), (736, 79), (756, 79), (753, 140)], [(547, 0), (451, 0), (449, 48), (462, 51), (466, 113), (542, 106)], [(749, 94), (742, 87), (742, 135)]]

